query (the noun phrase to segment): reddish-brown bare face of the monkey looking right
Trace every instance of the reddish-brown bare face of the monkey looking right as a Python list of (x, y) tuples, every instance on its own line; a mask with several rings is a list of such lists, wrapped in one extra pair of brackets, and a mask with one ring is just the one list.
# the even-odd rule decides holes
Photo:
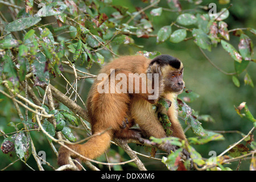
[(176, 70), (171, 69), (171, 71), (169, 70), (164, 75), (164, 89), (167, 92), (181, 93), (185, 86), (183, 81), (183, 68)]

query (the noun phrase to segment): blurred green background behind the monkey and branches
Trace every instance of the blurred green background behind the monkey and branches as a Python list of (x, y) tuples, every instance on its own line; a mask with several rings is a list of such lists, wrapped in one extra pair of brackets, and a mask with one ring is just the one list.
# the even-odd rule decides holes
[[(180, 1), (183, 9), (189, 9), (189, 5), (187, 1)], [(220, 11), (223, 7), (228, 7), (228, 5), (219, 5), (218, 1), (213, 0), (204, 0), (200, 5), (208, 6), (209, 3), (214, 2), (217, 4), (217, 12)], [(159, 6), (161, 6), (160, 2)], [(233, 0), (230, 1), (233, 4), (229, 9), (229, 18), (225, 20), (228, 23), (228, 29), (231, 30), (233, 28), (241, 28), (241, 27), (251, 27), (256, 28), (256, 1), (251, 0)], [(135, 10), (135, 6), (144, 7), (145, 4), (138, 0), (126, 0), (119, 1), (113, 0), (113, 4), (123, 5), (129, 7), (129, 11), (133, 12)], [(3, 6), (0, 3), (0, 11), (1, 13), (6, 15), (6, 18), (9, 18), (11, 21), (11, 17), (9, 17), (8, 9), (6, 6)], [(191, 10), (191, 12), (195, 11), (204, 11), (202, 9)], [(106, 7), (102, 10), (102, 12), (107, 15), (113, 13), (113, 9), (109, 9)], [(188, 11), (189, 12), (189, 11)], [(149, 11), (146, 11), (149, 13)], [(156, 34), (158, 30), (166, 25), (170, 25), (172, 22), (176, 20), (177, 13), (171, 13), (168, 11), (163, 11), (161, 16), (155, 16), (151, 19), (154, 24), (154, 32), (152, 34)], [(175, 28), (174, 28), (175, 30)], [(174, 31), (172, 30), (172, 31)], [(255, 43), (255, 36), (253, 34), (248, 33), (247, 35), (253, 40)], [(191, 35), (188, 35), (189, 37)], [(230, 33), (231, 40), (233, 46), (237, 48), (239, 43), (239, 38), (235, 37)], [(181, 42), (178, 44), (174, 44), (171, 42), (164, 42), (162, 44), (156, 44), (156, 38), (149, 39), (138, 39), (136, 36), (132, 36), (135, 40), (135, 44), (144, 46), (144, 48), (137, 48), (132, 46), (121, 46), (118, 49), (118, 55), (133, 55), (137, 51), (145, 50), (145, 51), (159, 51), (161, 53), (169, 54), (174, 57), (179, 58), (183, 61), (184, 64), (184, 81), (187, 89), (192, 90), (193, 92), (200, 95), (196, 101), (189, 103), (189, 106), (192, 107), (199, 114), (208, 114), (212, 116), (214, 122), (203, 122), (202, 125), (204, 129), (213, 130), (213, 131), (241, 131), (244, 134), (247, 134), (248, 131), (253, 127), (252, 123), (245, 118), (241, 118), (236, 111), (234, 110), (234, 106), (240, 105), (241, 102), (246, 102), (249, 107), (251, 113), (256, 116), (256, 90), (255, 86), (252, 88), (249, 85), (243, 84), (243, 77), (246, 72), (243, 72), (238, 78), (240, 80), (241, 86), (237, 88), (232, 82), (232, 76), (225, 75), (221, 73), (216, 68), (214, 68), (207, 59), (202, 55), (199, 48), (193, 43), (193, 40), (187, 40), (186, 42)], [(254, 52), (256, 49), (254, 48)], [(216, 48), (213, 48), (211, 52), (205, 51), (208, 57), (216, 64), (219, 68), (226, 72), (234, 72), (234, 61), (230, 57), (230, 55), (224, 51), (220, 44)], [(103, 55), (106, 55), (105, 61), (109, 61), (108, 52), (102, 52)], [(255, 55), (253, 56), (255, 59)], [(100, 67), (94, 64), (91, 73), (97, 74), (97, 71)], [(256, 66), (255, 63), (250, 63), (249, 67), (246, 69), (247, 72), (250, 73), (251, 79), (256, 84)], [(68, 75), (66, 75), (68, 77)], [(53, 83), (57, 83), (59, 80), (53, 81)], [(84, 83), (82, 88), (82, 98), (86, 100), (86, 92), (90, 87), (92, 80), (88, 80)], [(3, 96), (0, 95), (0, 99)], [(15, 108), (13, 106), (13, 102), (11, 100), (3, 100), (0, 102), (1, 106), (1, 115), (0, 115), (0, 128), (5, 129), (5, 133), (9, 133), (14, 131), (12, 127), (6, 127), (7, 122), (16, 121), (18, 117), (16, 117)], [(184, 126), (185, 127), (185, 126)], [(187, 136), (192, 136), (192, 132), (188, 131)], [(52, 158), (48, 158), (48, 162), (56, 163), (55, 156), (53, 156), (51, 150), (46, 147), (46, 140), (39, 133), (32, 133), (32, 138), (36, 137), (38, 140), (34, 140), (35, 145), (37, 146), (37, 150), (46, 151), (47, 155), (51, 155)], [(225, 140), (209, 142), (200, 146), (193, 146), (196, 150), (204, 157), (209, 158), (209, 151), (216, 151), (217, 155), (224, 151), (230, 144), (237, 142), (241, 139), (241, 135), (237, 133), (226, 133), (223, 134)], [(255, 138), (255, 137), (254, 137)], [(2, 142), (3, 138), (0, 138), (0, 142)], [(136, 146), (134, 146), (136, 147)], [(137, 147), (139, 150), (139, 147)], [(140, 157), (141, 158), (141, 157)], [(164, 164), (160, 162), (155, 162), (152, 160), (147, 160), (141, 158), (145, 162), (145, 166), (148, 169), (166, 169)], [(30, 163), (29, 159), (28, 163)], [(0, 152), (0, 169), (6, 167), (10, 160), (6, 158), (6, 156)], [(31, 161), (32, 163), (32, 161)], [(154, 164), (154, 165), (153, 165)], [(238, 162), (232, 163), (233, 167), (237, 166)], [(30, 164), (33, 166), (33, 164)], [(250, 160), (242, 161), (240, 170), (248, 170), (250, 165)], [(232, 167), (232, 166), (228, 166)], [(27, 169), (23, 163), (16, 163), (14, 166), (8, 169)], [(136, 169), (130, 167), (124, 169)]]

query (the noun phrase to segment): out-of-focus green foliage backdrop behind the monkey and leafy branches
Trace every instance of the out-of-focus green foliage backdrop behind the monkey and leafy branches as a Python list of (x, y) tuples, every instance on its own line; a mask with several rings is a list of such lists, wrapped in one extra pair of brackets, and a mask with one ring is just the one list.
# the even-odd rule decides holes
[[(5, 1), (7, 2), (7, 1)], [(9, 2), (9, 1), (8, 1)], [(10, 1), (11, 3), (24, 7), (24, 3), (22, 1)], [(38, 2), (39, 1), (35, 1)], [(49, 2), (49, 1), (48, 1)], [(76, 3), (77, 6), (83, 5), (80, 1), (73, 1)], [(98, 11), (93, 11), (95, 15), (97, 13), (105, 13), (108, 17), (112, 13), (114, 13), (116, 10), (113, 9), (113, 7), (105, 6), (101, 1), (88, 1), (88, 2), (94, 2), (96, 5), (98, 5)], [(127, 0), (127, 1), (108, 1), (110, 2), (110, 5), (121, 5), (128, 8), (128, 11), (134, 12), (137, 11), (135, 7), (146, 7), (150, 5), (150, 2), (143, 2), (138, 0)], [(160, 16), (152, 16), (150, 15), (150, 10), (148, 9), (145, 11), (145, 13), (148, 15), (150, 21), (152, 24), (154, 24), (154, 30), (150, 32), (152, 35), (156, 35), (160, 28), (163, 26), (170, 25), (172, 22), (175, 22), (177, 16), (183, 12), (188, 13), (196, 13), (196, 12), (204, 12), (207, 13), (207, 10), (204, 10), (201, 7), (208, 7), (209, 3), (214, 2), (217, 5), (217, 12), (219, 12), (222, 8), (226, 7), (228, 8), (230, 6), (230, 3), (232, 3), (232, 7), (229, 8), (229, 16), (227, 19), (225, 19), (225, 22), (228, 24), (228, 30), (232, 30), (234, 28), (242, 28), (242, 27), (251, 27), (255, 28), (255, 22), (256, 22), (256, 2), (255, 1), (228, 1), (228, 3), (224, 3), (222, 5), (221, 1), (213, 1), (213, 0), (204, 0), (204, 1), (191, 1), (192, 3), (189, 3), (189, 1), (180, 1), (182, 10), (181, 12), (170, 12), (170, 11), (162, 11), (162, 14)], [(195, 5), (196, 2), (200, 2), (199, 5)], [(34, 5), (34, 10), (36, 10), (37, 5)], [(166, 7), (167, 9), (170, 9), (168, 7), (166, 1), (160, 1), (159, 3), (160, 7)], [(7, 8), (8, 7), (8, 8)], [(185, 11), (186, 10), (186, 11)], [(12, 22), (15, 19), (15, 16), (12, 15), (14, 12), (14, 8), (5, 5), (4, 3), (0, 2), (0, 11), (5, 16), (5, 18), (8, 20), (8, 22)], [(54, 16), (47, 16), (42, 19), (42, 24), (47, 24), (56, 21)], [(126, 19), (127, 21), (127, 19)], [(119, 22), (118, 22), (119, 23)], [(5, 23), (2, 23), (1, 26), (6, 26)], [(57, 27), (57, 24), (53, 24), (52, 27)], [(173, 27), (172, 32), (174, 32), (177, 27)], [(189, 26), (188, 26), (189, 27)], [(192, 26), (191, 26), (192, 27)], [(189, 27), (190, 28), (190, 27)], [(2, 31), (2, 30), (1, 30)], [(64, 31), (68, 31), (68, 28)], [(64, 32), (63, 31), (63, 32)], [(233, 44), (233, 46), (238, 49), (238, 43), (240, 41), (240, 38), (237, 36), (232, 35), (233, 32), (230, 32), (230, 44)], [(6, 33), (1, 32), (2, 35), (5, 35)], [(57, 33), (59, 34), (59, 33)], [(255, 36), (251, 34), (250, 32), (246, 32), (248, 36), (250, 36), (252, 42), (255, 42)], [(2, 36), (1, 35), (1, 36)], [(17, 34), (20, 36), (20, 34)], [(68, 34), (62, 34), (61, 36), (69, 37)], [(61, 36), (56, 37), (56, 42), (60, 42)], [(188, 33), (187, 38), (191, 37), (192, 35)], [(117, 55), (134, 55), (137, 51), (159, 51), (160, 53), (164, 54), (170, 54), (172, 56), (178, 57), (180, 60), (183, 61), (183, 64), (185, 65), (185, 72), (184, 72), (184, 81), (186, 84), (186, 88), (193, 90), (193, 92), (200, 95), (199, 98), (196, 99), (196, 101), (189, 103), (189, 106), (192, 107), (193, 110), (197, 112), (197, 114), (204, 114), (204, 115), (210, 115), (214, 122), (204, 122), (202, 121), (202, 125), (204, 129), (209, 130), (218, 130), (218, 131), (241, 131), (244, 134), (247, 134), (248, 131), (251, 129), (252, 124), (248, 119), (241, 118), (236, 113), (236, 110), (234, 109), (234, 106), (240, 105), (241, 102), (246, 102), (247, 106), (249, 107), (251, 114), (255, 115), (255, 101), (256, 101), (256, 92), (255, 87), (250, 86), (248, 84), (243, 84), (243, 79), (245, 77), (246, 73), (250, 74), (251, 80), (255, 84), (256, 80), (256, 74), (255, 74), (255, 63), (251, 62), (250, 66), (246, 68), (245, 72), (242, 72), (240, 76), (238, 76), (238, 79), (240, 81), (240, 87), (238, 88), (236, 85), (234, 85), (232, 81), (232, 76), (225, 75), (224, 73), (221, 73), (216, 68), (214, 68), (207, 59), (205, 59), (204, 55), (200, 52), (200, 49), (196, 44), (193, 42), (192, 39), (189, 39), (187, 41), (182, 41), (180, 43), (171, 43), (170, 41), (166, 41), (164, 43), (158, 44), (156, 43), (156, 37), (150, 37), (148, 39), (138, 38), (135, 35), (130, 35), (131, 38), (134, 40), (135, 45), (143, 46), (133, 46), (128, 44), (122, 44), (121, 45), (112, 45), (113, 51), (117, 53)], [(112, 59), (112, 55), (108, 50), (102, 49), (99, 51), (104, 57), (105, 62), (108, 62)], [(210, 58), (210, 60), (213, 61), (214, 64), (216, 64), (219, 68), (224, 70), (225, 72), (234, 72), (234, 60), (232, 57), (230, 57), (229, 53), (226, 52), (221, 44), (219, 43), (217, 47), (212, 48), (212, 51), (204, 50), (204, 52), (207, 54), (207, 56)], [(255, 52), (255, 48), (254, 48)], [(255, 60), (255, 55), (253, 55), (253, 59)], [(82, 71), (86, 71), (84, 69), (84, 65), (81, 65), (79, 63), (76, 64), (77, 68), (81, 69)], [(65, 67), (64, 67), (65, 68)], [(96, 75), (98, 69), (100, 68), (100, 65), (93, 63), (92, 68), (90, 68), (89, 72)], [(68, 78), (68, 80), (73, 80), (73, 75), (69, 74), (68, 72), (64, 73), (65, 77)], [(92, 84), (93, 78), (87, 78), (85, 81), (82, 81), (79, 85), (79, 93), (82, 100), (86, 100), (86, 93), (88, 92), (90, 85)], [(56, 88), (60, 89), (61, 91), (65, 92), (65, 81), (63, 78), (56, 76), (55, 78), (52, 78), (51, 83), (56, 86)], [(3, 86), (1, 86), (1, 89), (3, 89)], [(40, 89), (40, 88), (39, 88)], [(40, 89), (40, 92), (42, 92), (42, 89)], [(11, 101), (9, 98), (4, 97), (2, 94), (0, 94), (0, 128), (5, 131), (5, 133), (11, 133), (14, 130), (13, 127), (7, 126), (7, 124), (12, 121), (14, 123), (20, 123), (20, 119), (16, 113), (15, 107), (13, 105), (13, 101)], [(82, 105), (80, 101), (78, 101), (79, 105)], [(61, 106), (61, 105), (60, 105)], [(24, 113), (24, 109), (22, 109)], [(30, 115), (31, 117), (31, 115)], [(30, 118), (31, 119), (31, 118)], [(186, 127), (184, 125), (184, 127)], [(81, 134), (81, 132), (79, 133)], [(193, 133), (191, 130), (188, 130), (186, 135), (188, 137), (192, 136)], [(196, 151), (199, 152), (203, 158), (209, 158), (209, 151), (216, 151), (217, 154), (220, 154), (222, 151), (224, 151), (226, 148), (230, 146), (230, 144), (233, 144), (237, 142), (239, 139), (241, 139), (241, 135), (238, 133), (224, 133), (225, 140), (221, 141), (212, 141), (203, 145), (195, 145)], [(47, 145), (46, 138), (37, 132), (31, 132), (31, 137), (34, 141), (34, 144), (36, 146), (36, 151), (46, 151), (47, 154), (47, 162), (51, 163), (53, 166), (56, 166), (56, 157), (53, 155), (53, 152), (51, 148)], [(0, 142), (2, 143), (3, 137), (0, 138)], [(131, 144), (133, 149), (135, 151), (140, 151), (141, 148), (136, 146), (135, 144)], [(113, 147), (114, 150), (110, 151), (110, 160), (114, 162), (118, 159), (126, 159), (129, 160), (129, 156), (124, 154), (122, 150), (120, 150), (117, 147)], [(123, 154), (123, 156), (122, 156)], [(8, 164), (10, 164), (9, 158), (2, 152), (0, 152), (0, 168), (6, 167)], [(102, 159), (105, 160), (104, 156), (102, 156)], [(148, 160), (146, 158), (141, 158), (144, 165), (147, 169), (161, 169), (166, 170), (166, 167), (163, 163), (157, 162), (155, 160)], [(251, 160), (242, 160), (240, 170), (248, 170), (250, 166)], [(34, 159), (30, 157), (28, 159), (27, 163), (33, 167), (36, 168), (36, 164), (34, 162)], [(102, 168), (105, 168), (104, 166), (99, 165)], [(236, 169), (238, 166), (238, 162), (234, 162), (230, 165), (226, 165), (232, 169)], [(13, 170), (21, 170), (21, 169), (28, 169), (26, 165), (22, 162), (17, 162), (13, 166), (9, 167), (8, 169)], [(51, 169), (46, 167), (46, 169)], [(121, 169), (118, 167), (115, 167), (115, 169)], [(125, 166), (122, 166), (122, 169), (137, 169), (132, 164), (126, 164)]]

